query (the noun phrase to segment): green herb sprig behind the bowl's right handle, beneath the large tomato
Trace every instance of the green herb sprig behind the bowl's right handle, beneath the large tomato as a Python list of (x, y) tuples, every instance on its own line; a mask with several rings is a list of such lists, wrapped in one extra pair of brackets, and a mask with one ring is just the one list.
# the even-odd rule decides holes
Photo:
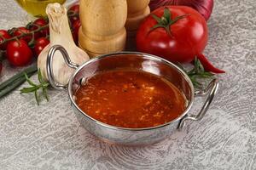
[(201, 61), (197, 57), (194, 59), (194, 68), (190, 71), (186, 71), (181, 64), (178, 64), (178, 66), (189, 76), (195, 88), (202, 88), (203, 84), (201, 84), (200, 80), (214, 77), (212, 72), (205, 71), (203, 65), (201, 65)]

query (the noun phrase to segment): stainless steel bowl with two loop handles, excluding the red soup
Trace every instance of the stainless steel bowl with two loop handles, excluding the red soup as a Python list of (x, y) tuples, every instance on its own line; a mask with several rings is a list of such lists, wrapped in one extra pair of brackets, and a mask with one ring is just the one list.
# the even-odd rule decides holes
[[(52, 74), (52, 59), (55, 51), (60, 51), (63, 55), (68, 66), (76, 69), (73, 76), (70, 78), (68, 86), (63, 86), (58, 82), (55, 82), (54, 75)], [(114, 127), (103, 122), (99, 122), (96, 119), (88, 116), (84, 111), (79, 109), (74, 99), (74, 93), (84, 82), (86, 78), (93, 77), (100, 71), (110, 71), (121, 68), (132, 68), (135, 70), (147, 71), (165, 77), (167, 81), (172, 82), (178, 89), (180, 89), (185, 98), (187, 99), (187, 107), (183, 114), (177, 117), (171, 122), (162, 124), (157, 127), (147, 128), (125, 128)], [(73, 106), (73, 111), (77, 116), (81, 125), (91, 134), (96, 137), (108, 141), (114, 144), (126, 144), (126, 145), (141, 145), (141, 144), (153, 144), (165, 139), (176, 129), (182, 129), (184, 123), (187, 120), (198, 121), (207, 112), (209, 105), (212, 102), (214, 95), (218, 89), (218, 80), (214, 79), (205, 90), (195, 91), (192, 82), (189, 77), (177, 67), (166, 59), (137, 52), (120, 52), (116, 54), (106, 54), (100, 57), (90, 59), (83, 65), (77, 65), (72, 63), (68, 57), (68, 54), (61, 46), (54, 46), (50, 48), (47, 59), (47, 74), (49, 82), (53, 88), (67, 89), (69, 99)], [(201, 111), (196, 115), (190, 115), (189, 110), (193, 105), (195, 96), (207, 95), (206, 102), (204, 103)]]

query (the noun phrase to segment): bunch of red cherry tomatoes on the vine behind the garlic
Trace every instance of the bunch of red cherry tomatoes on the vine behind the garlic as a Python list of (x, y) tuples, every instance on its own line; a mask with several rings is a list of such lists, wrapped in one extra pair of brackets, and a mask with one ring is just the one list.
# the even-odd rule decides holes
[[(73, 32), (73, 39), (78, 42), (80, 26), (79, 4), (68, 9), (67, 16)], [(8, 59), (13, 66), (25, 66), (32, 62), (32, 56), (38, 57), (49, 44), (49, 20), (38, 18), (26, 26), (0, 30), (0, 73), (3, 59)]]

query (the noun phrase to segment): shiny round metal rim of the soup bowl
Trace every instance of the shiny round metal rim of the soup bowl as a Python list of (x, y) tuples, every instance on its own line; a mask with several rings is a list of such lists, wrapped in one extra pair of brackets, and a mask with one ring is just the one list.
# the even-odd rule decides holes
[[(79, 73), (80, 70), (82, 70), (84, 68), (84, 66), (89, 65), (90, 63), (93, 63), (93, 62), (95, 62), (95, 61), (97, 61), (99, 59), (105, 58), (105, 57), (111, 57), (111, 56), (115, 56), (115, 55), (124, 55), (124, 54), (138, 54), (138, 55), (142, 55), (144, 57), (147, 57), (148, 59), (158, 60), (160, 62), (164, 62), (166, 65), (174, 67), (175, 69), (177, 69), (177, 71), (179, 71), (181, 73), (181, 75), (184, 77), (186, 82), (189, 83), (189, 88), (191, 90), (191, 99), (190, 99), (189, 104), (186, 107), (185, 111), (183, 111), (183, 114), (181, 114), (180, 116), (177, 116), (177, 118), (173, 119), (171, 122), (166, 122), (165, 124), (161, 124), (161, 125), (156, 126), (156, 127), (128, 128), (128, 127), (116, 127), (116, 126), (109, 125), (109, 124), (104, 123), (104, 122), (100, 122), (100, 121), (94, 119), (93, 117), (87, 115), (86, 113), (84, 113), (84, 111), (82, 111), (79, 108), (79, 106), (76, 104), (76, 102), (73, 99), (72, 85), (73, 85), (74, 77)], [(172, 124), (173, 122), (178, 122), (191, 109), (191, 107), (193, 105), (193, 102), (194, 102), (194, 92), (195, 92), (195, 90), (194, 90), (193, 83), (190, 81), (188, 75), (182, 69), (180, 69), (177, 65), (174, 65), (172, 62), (170, 62), (170, 61), (168, 61), (166, 59), (160, 58), (158, 56), (155, 56), (153, 54), (145, 54), (145, 53), (140, 53), (140, 52), (129, 52), (129, 51), (118, 52), (118, 53), (111, 53), (111, 54), (103, 54), (103, 55), (97, 56), (96, 58), (93, 58), (93, 59), (90, 59), (90, 60), (86, 61), (84, 64), (80, 65), (79, 68), (76, 71), (74, 71), (73, 76), (70, 78), (70, 80), (68, 82), (68, 96), (71, 99), (72, 104), (76, 107), (76, 109), (79, 111), (80, 114), (82, 114), (86, 118), (90, 119), (90, 121), (93, 121), (96, 124), (101, 125), (103, 127), (108, 127), (108, 128), (112, 128), (112, 129), (115, 129), (115, 130), (125, 130), (125, 131), (153, 130), (153, 129), (160, 128), (160, 127), (166, 127), (166, 126)]]

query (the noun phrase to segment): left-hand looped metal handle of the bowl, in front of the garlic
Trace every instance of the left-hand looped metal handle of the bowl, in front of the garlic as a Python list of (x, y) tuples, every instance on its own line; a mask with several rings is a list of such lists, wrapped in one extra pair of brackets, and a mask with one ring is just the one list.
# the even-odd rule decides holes
[(47, 71), (47, 77), (49, 79), (50, 85), (57, 89), (57, 90), (63, 90), (67, 88), (67, 85), (62, 85), (59, 82), (55, 82), (55, 77), (53, 75), (53, 70), (52, 70), (52, 62), (53, 62), (53, 57), (55, 55), (56, 51), (60, 51), (67, 66), (77, 69), (79, 65), (73, 63), (71, 59), (69, 58), (67, 51), (65, 48), (63, 48), (61, 45), (54, 45), (52, 48), (49, 48), (49, 52), (47, 54), (47, 60), (46, 60), (46, 71)]

